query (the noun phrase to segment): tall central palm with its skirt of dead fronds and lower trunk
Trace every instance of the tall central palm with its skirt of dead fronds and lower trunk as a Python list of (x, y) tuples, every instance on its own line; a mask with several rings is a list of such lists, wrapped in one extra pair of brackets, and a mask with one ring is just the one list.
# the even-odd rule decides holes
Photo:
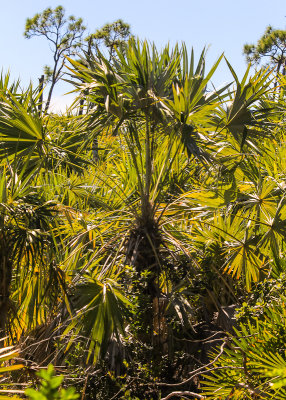
[[(169, 179), (183, 174), (184, 168), (190, 170), (191, 158), (208, 160), (201, 148), (208, 138), (200, 136), (197, 129), (211, 121), (218, 96), (223, 96), (224, 88), (219, 93), (206, 92), (220, 60), (204, 76), (205, 51), (194, 68), (194, 55), (189, 62), (184, 46), (173, 51), (166, 47), (159, 53), (155, 45), (135, 39), (118, 50), (112, 64), (102, 55), (91, 55), (80, 63), (70, 60), (71, 75), (79, 80), (77, 90), (88, 93), (86, 143), (90, 145), (107, 131), (109, 140), (114, 138), (118, 143), (119, 152), (115, 157), (108, 156), (108, 164), (98, 164), (95, 178), (106, 186), (107, 193), (107, 188), (113, 188), (120, 204), (101, 217), (107, 221), (117, 215), (121, 221), (119, 234), (113, 238), (108, 235), (104, 243), (110, 241), (106, 250), (116, 258), (120, 256), (121, 265), (131, 265), (139, 280), (147, 276), (143, 290), (153, 310), (149, 326), (160, 326), (166, 308), (166, 294), (162, 294), (165, 265), (179, 246), (164, 229), (168, 202), (181, 191), (173, 187), (172, 195)], [(180, 168), (180, 163), (185, 167)], [(124, 179), (128, 177), (126, 183), (122, 181), (122, 168)], [(110, 255), (106, 257), (110, 265), (118, 263)]]

